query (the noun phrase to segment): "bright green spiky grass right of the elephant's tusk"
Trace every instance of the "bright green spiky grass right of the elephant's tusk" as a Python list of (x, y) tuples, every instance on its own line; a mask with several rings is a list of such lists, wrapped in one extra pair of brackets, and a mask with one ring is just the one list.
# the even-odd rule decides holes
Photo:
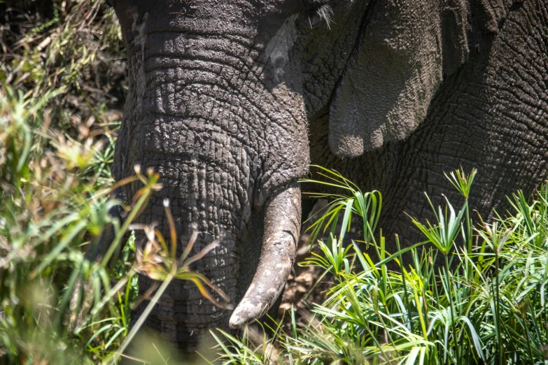
[[(531, 203), (523, 192), (513, 194), (505, 218), (473, 222), (468, 196), (475, 173), (447, 175), (465, 198), (461, 209), (446, 199), (444, 208), (432, 206), (435, 222), (412, 218), (426, 241), (387, 252), (375, 231), (379, 192), (363, 194), (323, 169), (329, 184), (350, 193), (335, 196), (313, 225), (317, 232), (328, 222), (330, 238), (318, 243), (322, 255), (304, 263), (334, 275), (328, 299), (314, 306), (304, 327), (292, 310), (290, 330), (272, 338), (227, 336), (220, 357), (231, 364), (546, 364), (548, 188)], [(342, 244), (351, 215), (369, 232), (365, 245)], [(338, 216), (344, 224), (337, 232)], [(376, 249), (366, 251), (367, 245)], [(405, 266), (402, 255), (412, 264)], [(388, 262), (399, 270), (389, 270)], [(277, 349), (274, 360), (262, 356), (265, 344)]]

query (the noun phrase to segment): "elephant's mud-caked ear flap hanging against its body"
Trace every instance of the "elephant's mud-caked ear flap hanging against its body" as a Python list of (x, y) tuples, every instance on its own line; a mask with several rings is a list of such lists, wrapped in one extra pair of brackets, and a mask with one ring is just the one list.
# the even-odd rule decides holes
[(465, 0), (386, 0), (366, 15), (330, 105), (329, 143), (357, 157), (407, 138), (444, 75), (468, 59)]

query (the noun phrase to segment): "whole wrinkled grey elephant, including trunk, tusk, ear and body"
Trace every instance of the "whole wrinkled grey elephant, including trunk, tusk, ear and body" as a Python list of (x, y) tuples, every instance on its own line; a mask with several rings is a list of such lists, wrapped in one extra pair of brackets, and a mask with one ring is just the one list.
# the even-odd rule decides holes
[[(379, 189), (389, 241), (418, 238), (405, 212), (429, 217), (421, 192), (457, 199), (444, 171), (479, 170), (470, 200), (484, 217), (545, 179), (544, 1), (112, 2), (130, 80), (115, 178), (134, 164), (162, 174), (140, 220), (169, 236), (169, 198), (180, 252), (191, 222), (195, 250), (220, 238), (195, 269), (237, 307), (173, 282), (146, 324), (187, 351), (204, 329), (241, 327), (274, 304), (310, 162)], [(140, 278), (141, 291), (151, 284)]]

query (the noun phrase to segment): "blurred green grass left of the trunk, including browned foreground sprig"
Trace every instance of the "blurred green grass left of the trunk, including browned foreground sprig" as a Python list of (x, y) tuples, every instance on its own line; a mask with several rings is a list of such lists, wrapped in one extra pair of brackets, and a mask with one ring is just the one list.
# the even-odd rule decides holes
[[(190, 280), (206, 299), (227, 306), (220, 289), (189, 269), (216, 243), (190, 257), (194, 237), (176, 257), (169, 201), (169, 238), (134, 224), (160, 189), (160, 176), (137, 166), (134, 176), (114, 183), (104, 158), (114, 131), (103, 125), (104, 138), (70, 138), (51, 129), (45, 106), (55, 94), (34, 103), (22, 92), (0, 90), (0, 358), (8, 364), (115, 364), (171, 280)], [(109, 211), (122, 202), (109, 193), (136, 180), (142, 187), (119, 222)], [(113, 240), (90, 262), (83, 251), (98, 245), (107, 229)], [(136, 249), (132, 231), (141, 229), (146, 244)], [(137, 273), (162, 285), (129, 329)]]

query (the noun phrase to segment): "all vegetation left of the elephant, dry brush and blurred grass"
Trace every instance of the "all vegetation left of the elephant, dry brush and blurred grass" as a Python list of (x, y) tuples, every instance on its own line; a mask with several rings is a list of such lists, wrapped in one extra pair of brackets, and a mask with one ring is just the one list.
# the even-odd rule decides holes
[[(226, 306), (223, 292), (189, 270), (215, 244), (189, 257), (191, 241), (174, 257), (173, 227), (166, 240), (132, 224), (160, 188), (157, 173), (136, 166), (118, 183), (111, 176), (121, 115), (106, 103), (117, 104), (127, 85), (113, 10), (103, 0), (52, 0), (49, 19), (24, 11), (7, 15), (17, 33), (0, 24), (0, 359), (113, 364), (171, 280), (190, 280)], [(118, 222), (108, 212), (121, 202), (109, 194), (136, 180), (143, 187)], [(171, 217), (169, 202), (165, 214)], [(90, 262), (83, 252), (106, 229), (113, 240)], [(134, 230), (146, 233), (143, 249), (135, 248)], [(136, 273), (163, 284), (129, 329), (133, 306), (144, 300)]]

